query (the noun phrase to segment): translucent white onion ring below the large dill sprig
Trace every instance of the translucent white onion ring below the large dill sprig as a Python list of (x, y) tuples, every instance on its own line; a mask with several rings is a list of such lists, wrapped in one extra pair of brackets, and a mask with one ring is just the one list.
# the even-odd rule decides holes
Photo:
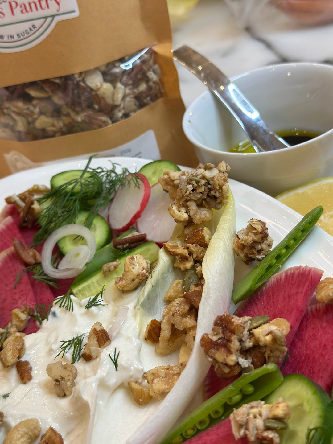
[[(54, 268), (51, 263), (52, 258), (52, 252), (53, 248), (55, 247), (56, 243), (59, 241), (59, 239), (63, 238), (64, 236), (67, 236), (69, 234), (75, 234), (77, 236), (82, 236), (87, 241), (87, 248), (89, 249), (89, 257), (86, 262), (91, 261), (91, 259), (94, 257), (95, 251), (96, 251), (96, 239), (94, 235), (91, 233), (91, 231), (83, 225), (78, 224), (68, 224), (64, 225), (58, 230), (53, 231), (51, 236), (47, 238), (47, 240), (44, 243), (43, 251), (42, 251), (42, 267), (46, 274), (48, 274), (51, 277), (56, 277), (58, 279), (66, 279), (68, 277), (75, 277), (79, 273), (81, 273), (86, 266), (74, 266), (74, 267), (68, 267), (64, 269)], [(71, 254), (71, 252), (67, 253)], [(67, 257), (63, 258), (63, 260)], [(67, 262), (67, 259), (65, 263)], [(77, 264), (75, 264), (77, 265)]]

